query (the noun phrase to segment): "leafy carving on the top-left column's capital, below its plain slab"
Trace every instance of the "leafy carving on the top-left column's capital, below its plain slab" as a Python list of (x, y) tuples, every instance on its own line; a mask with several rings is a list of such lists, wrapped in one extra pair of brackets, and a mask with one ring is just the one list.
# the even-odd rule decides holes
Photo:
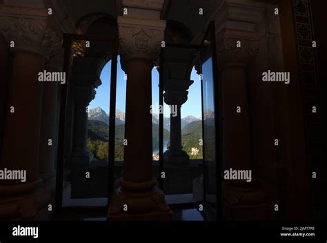
[(56, 55), (62, 45), (62, 38), (47, 19), (0, 17), (0, 33), (8, 43), (14, 41), (13, 50), (35, 52), (45, 57)]

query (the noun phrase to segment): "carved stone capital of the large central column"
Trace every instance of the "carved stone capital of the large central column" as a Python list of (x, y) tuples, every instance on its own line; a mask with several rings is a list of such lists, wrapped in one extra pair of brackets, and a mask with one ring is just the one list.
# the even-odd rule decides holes
[(122, 68), (135, 58), (148, 59), (154, 64), (164, 41), (166, 21), (119, 16), (117, 22)]

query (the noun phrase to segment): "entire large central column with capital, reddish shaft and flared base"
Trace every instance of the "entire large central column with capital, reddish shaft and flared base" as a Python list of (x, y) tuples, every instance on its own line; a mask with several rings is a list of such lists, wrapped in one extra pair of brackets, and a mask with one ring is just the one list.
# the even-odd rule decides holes
[[(108, 220), (170, 220), (164, 194), (152, 177), (151, 70), (159, 57), (166, 21), (163, 1), (125, 1), (130, 15), (118, 17), (120, 55), (128, 75), (123, 178), (113, 193)], [(158, 14), (154, 14), (158, 13)], [(152, 19), (141, 19), (144, 16)]]

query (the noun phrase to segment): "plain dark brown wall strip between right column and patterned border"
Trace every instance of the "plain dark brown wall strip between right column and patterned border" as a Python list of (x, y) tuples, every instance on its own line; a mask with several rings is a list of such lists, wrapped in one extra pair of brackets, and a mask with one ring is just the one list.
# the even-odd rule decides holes
[(303, 97), (299, 77), (297, 39), (293, 19), (293, 1), (279, 1), (281, 20), (281, 41), (284, 54), (284, 68), (290, 72), (292, 81), (286, 89), (287, 124), (284, 130), (288, 137), (288, 202), (287, 213), (292, 220), (312, 219), (310, 200), (310, 179), (304, 130)]

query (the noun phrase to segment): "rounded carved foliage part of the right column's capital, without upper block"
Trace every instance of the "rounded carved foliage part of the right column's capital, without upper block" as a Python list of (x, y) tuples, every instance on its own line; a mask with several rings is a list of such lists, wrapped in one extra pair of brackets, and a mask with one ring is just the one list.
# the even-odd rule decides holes
[(249, 61), (257, 57), (259, 41), (256, 35), (246, 32), (223, 30), (217, 39), (217, 57), (220, 66), (246, 66)]

